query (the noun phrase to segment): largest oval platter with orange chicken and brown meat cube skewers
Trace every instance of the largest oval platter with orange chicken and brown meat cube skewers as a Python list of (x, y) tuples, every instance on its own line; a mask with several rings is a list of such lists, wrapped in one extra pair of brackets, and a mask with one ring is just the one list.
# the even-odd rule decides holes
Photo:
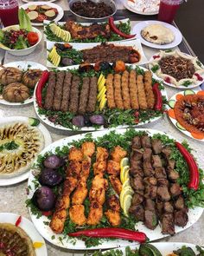
[(55, 141), (30, 172), (31, 219), (50, 243), (76, 250), (179, 233), (203, 212), (203, 171), (190, 150), (186, 141), (151, 129)]

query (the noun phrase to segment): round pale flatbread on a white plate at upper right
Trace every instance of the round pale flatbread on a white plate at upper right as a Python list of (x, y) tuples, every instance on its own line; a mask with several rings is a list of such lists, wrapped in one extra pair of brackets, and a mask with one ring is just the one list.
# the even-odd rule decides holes
[(173, 32), (159, 23), (145, 27), (141, 31), (141, 36), (146, 41), (156, 44), (172, 43), (175, 40)]

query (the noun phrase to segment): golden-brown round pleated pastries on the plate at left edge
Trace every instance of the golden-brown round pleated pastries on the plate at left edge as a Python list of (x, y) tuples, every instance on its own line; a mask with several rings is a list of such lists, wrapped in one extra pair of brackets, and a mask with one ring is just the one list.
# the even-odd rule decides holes
[(22, 70), (13, 67), (0, 69), (0, 95), (6, 102), (24, 102), (33, 96), (41, 69)]

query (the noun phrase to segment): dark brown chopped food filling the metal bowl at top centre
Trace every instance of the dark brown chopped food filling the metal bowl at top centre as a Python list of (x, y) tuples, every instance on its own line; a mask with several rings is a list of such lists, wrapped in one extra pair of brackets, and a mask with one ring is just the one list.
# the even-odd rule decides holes
[(70, 6), (70, 9), (79, 16), (91, 18), (111, 16), (113, 13), (112, 6), (103, 1), (99, 1), (99, 3), (91, 0), (76, 1)]

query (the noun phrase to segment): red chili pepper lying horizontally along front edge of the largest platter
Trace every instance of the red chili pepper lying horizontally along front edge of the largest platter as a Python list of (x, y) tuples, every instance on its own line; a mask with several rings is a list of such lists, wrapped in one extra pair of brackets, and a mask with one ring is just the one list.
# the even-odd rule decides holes
[(79, 237), (85, 235), (92, 238), (118, 238), (124, 240), (133, 240), (140, 243), (143, 243), (147, 240), (147, 236), (145, 233), (118, 227), (100, 227), (94, 229), (87, 229), (75, 233), (68, 233), (68, 235), (72, 237)]

